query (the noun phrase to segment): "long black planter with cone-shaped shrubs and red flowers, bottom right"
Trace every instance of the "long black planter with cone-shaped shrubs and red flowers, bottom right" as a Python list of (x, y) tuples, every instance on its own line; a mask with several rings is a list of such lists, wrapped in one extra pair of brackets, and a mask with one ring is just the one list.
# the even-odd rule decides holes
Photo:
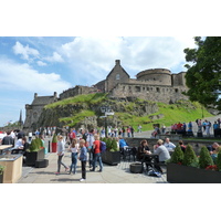
[[(172, 155), (175, 154), (177, 151)], [(221, 152), (218, 155), (218, 164), (220, 164), (221, 169)], [(221, 183), (221, 172), (214, 171), (219, 169), (210, 158), (206, 147), (201, 148), (198, 158), (192, 147), (188, 145), (182, 160), (173, 161), (171, 158), (167, 161), (167, 181), (175, 183)]]

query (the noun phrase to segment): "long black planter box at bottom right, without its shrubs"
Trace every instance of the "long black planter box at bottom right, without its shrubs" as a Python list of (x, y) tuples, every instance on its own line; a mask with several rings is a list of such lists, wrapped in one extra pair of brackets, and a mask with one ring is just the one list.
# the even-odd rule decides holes
[(221, 183), (221, 172), (167, 164), (167, 181), (172, 183)]

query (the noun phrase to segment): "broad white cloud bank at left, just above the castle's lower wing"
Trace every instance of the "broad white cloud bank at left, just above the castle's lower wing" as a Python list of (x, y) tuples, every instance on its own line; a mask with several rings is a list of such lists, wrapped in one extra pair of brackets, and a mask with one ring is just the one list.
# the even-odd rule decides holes
[(19, 64), (7, 59), (0, 59), (0, 75), (1, 91), (52, 94), (71, 87), (71, 84), (56, 73), (39, 73), (29, 64)]

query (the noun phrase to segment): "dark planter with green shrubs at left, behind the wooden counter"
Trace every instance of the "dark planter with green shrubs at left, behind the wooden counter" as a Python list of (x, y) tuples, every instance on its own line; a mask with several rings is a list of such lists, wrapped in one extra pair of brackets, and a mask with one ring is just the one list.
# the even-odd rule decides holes
[(44, 159), (44, 147), (40, 138), (32, 139), (30, 148), (27, 150), (28, 166), (34, 166), (36, 160)]

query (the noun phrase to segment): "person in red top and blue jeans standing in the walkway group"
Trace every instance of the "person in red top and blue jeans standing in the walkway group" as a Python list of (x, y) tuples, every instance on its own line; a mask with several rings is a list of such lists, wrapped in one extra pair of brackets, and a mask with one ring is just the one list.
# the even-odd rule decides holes
[(102, 164), (102, 154), (101, 154), (101, 141), (99, 141), (99, 136), (98, 135), (94, 135), (94, 143), (93, 143), (93, 147), (94, 147), (94, 159), (93, 159), (93, 168), (91, 169), (91, 171), (95, 171), (96, 168), (96, 162), (98, 160), (99, 162), (99, 172), (102, 172), (103, 170), (103, 164)]

